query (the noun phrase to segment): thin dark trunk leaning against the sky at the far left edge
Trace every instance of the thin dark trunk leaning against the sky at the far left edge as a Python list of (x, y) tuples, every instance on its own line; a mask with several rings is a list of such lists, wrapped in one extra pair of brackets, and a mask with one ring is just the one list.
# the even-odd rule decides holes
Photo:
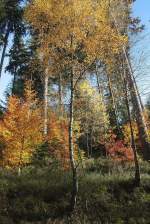
[(1, 61), (0, 61), (0, 78), (1, 78), (2, 69), (3, 69), (3, 64), (4, 64), (4, 58), (5, 58), (6, 48), (7, 48), (7, 44), (8, 44), (9, 33), (10, 33), (10, 28), (9, 28), (9, 24), (8, 24), (6, 34), (5, 34), (5, 37), (4, 37), (4, 46), (3, 46)]

